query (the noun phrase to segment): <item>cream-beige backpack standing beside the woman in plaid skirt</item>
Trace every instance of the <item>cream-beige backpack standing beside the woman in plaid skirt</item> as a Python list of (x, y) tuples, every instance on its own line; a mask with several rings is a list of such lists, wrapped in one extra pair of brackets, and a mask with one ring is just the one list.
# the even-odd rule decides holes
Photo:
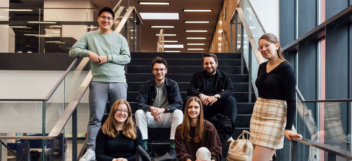
[[(247, 134), (245, 139), (244, 134)], [(237, 139), (230, 143), (228, 148), (227, 161), (252, 161), (253, 156), (253, 144), (249, 142), (250, 133), (246, 130), (242, 131), (242, 134)], [(239, 139), (242, 136), (242, 139)]]

